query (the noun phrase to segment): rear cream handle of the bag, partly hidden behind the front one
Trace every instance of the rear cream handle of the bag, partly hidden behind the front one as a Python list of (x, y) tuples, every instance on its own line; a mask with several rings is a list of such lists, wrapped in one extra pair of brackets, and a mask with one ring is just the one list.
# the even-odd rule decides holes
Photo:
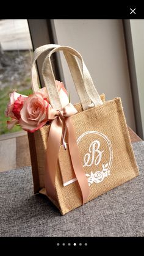
[[(44, 53), (45, 51), (48, 51), (48, 49), (52, 48), (58, 48), (60, 45), (56, 44), (49, 44), (49, 45), (43, 45), (35, 49), (34, 51), (34, 56), (33, 56), (33, 61), (32, 61), (32, 68), (31, 68), (31, 81), (32, 81), (32, 90), (33, 92), (38, 92), (39, 87), (38, 87), (38, 76), (37, 76), (37, 70), (35, 68), (35, 61), (37, 58), (41, 55), (41, 53)], [(85, 88), (82, 86), (83, 78), (82, 78), (82, 73), (81, 69), (79, 67), (79, 63), (77, 62), (76, 57), (71, 55), (70, 53), (64, 53), (65, 58), (67, 60), (68, 66), (71, 71), (71, 75), (73, 77), (74, 84), (76, 86), (77, 93), (79, 95), (81, 104), (82, 104), (82, 109), (85, 110), (87, 109), (87, 106), (90, 104), (90, 98), (87, 98), (87, 92)], [(79, 86), (81, 84), (81, 86)]]

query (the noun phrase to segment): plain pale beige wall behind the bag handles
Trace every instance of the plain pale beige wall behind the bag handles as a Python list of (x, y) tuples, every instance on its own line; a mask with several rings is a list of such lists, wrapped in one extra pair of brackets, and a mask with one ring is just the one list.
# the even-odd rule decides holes
[[(126, 47), (121, 20), (54, 20), (57, 42), (77, 49), (84, 57), (93, 82), (106, 99), (121, 97), (129, 126), (135, 131)], [(73, 87), (70, 71), (62, 58), (65, 85), (71, 101), (79, 98)]]

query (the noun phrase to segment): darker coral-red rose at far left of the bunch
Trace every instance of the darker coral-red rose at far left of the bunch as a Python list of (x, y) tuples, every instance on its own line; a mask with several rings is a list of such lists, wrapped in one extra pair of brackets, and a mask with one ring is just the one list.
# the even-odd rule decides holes
[(10, 93), (10, 102), (5, 109), (5, 116), (11, 117), (12, 120), (7, 121), (7, 128), (11, 129), (14, 125), (19, 123), (20, 111), (23, 108), (23, 101), (27, 98), (25, 95), (21, 95), (17, 92)]

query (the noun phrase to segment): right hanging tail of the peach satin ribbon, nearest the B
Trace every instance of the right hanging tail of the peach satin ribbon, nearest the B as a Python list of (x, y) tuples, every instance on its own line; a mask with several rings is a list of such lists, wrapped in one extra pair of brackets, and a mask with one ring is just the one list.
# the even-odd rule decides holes
[(87, 202), (87, 197), (90, 192), (88, 187), (87, 178), (85, 176), (84, 168), (82, 167), (81, 158), (79, 155), (79, 148), (76, 141), (73, 123), (71, 123), (70, 117), (65, 118), (65, 124), (68, 129), (68, 146), (70, 150), (71, 163), (73, 164), (73, 170), (76, 175), (77, 181), (82, 192), (82, 202)]

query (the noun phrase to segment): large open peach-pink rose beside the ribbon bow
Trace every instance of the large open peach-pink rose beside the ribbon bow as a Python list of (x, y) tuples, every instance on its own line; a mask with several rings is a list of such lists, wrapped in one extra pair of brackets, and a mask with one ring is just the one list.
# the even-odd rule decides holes
[(25, 131), (34, 133), (48, 122), (48, 100), (36, 92), (24, 101), (20, 111), (20, 125)]

